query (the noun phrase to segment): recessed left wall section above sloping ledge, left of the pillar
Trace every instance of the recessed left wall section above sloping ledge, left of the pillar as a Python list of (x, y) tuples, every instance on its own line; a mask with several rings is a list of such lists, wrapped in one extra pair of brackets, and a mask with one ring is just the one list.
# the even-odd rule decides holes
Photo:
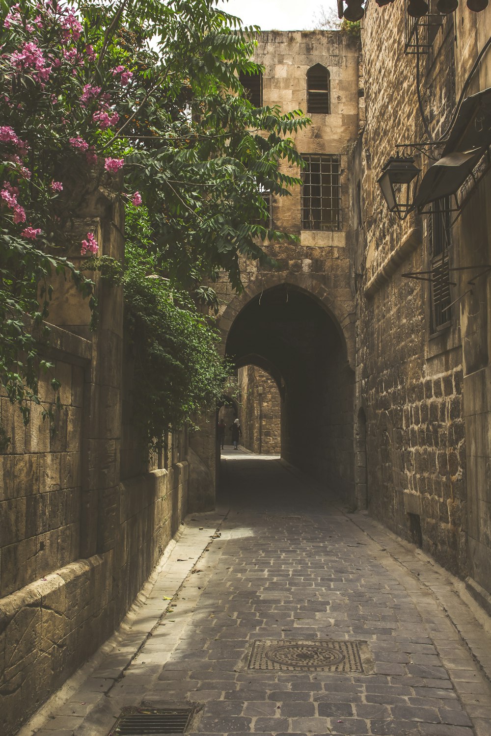
[[(71, 360), (88, 360), (91, 344), (54, 331), (68, 352), (40, 376), (39, 394), (41, 402), (52, 402), (51, 381), (61, 381), (56, 434), (41, 418), (43, 406), (32, 406), (25, 427), (18, 408), (5, 394), (0, 399), (1, 419), (12, 438), (0, 456), (0, 596), (78, 558), (84, 369)], [(74, 348), (80, 348), (76, 355), (69, 352)]]

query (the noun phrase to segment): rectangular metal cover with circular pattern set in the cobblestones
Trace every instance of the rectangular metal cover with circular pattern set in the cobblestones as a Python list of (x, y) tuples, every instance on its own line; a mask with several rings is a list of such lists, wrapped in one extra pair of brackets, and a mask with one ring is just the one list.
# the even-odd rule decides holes
[(366, 672), (372, 669), (370, 664), (370, 651), (366, 642), (280, 640), (255, 641), (248, 668)]

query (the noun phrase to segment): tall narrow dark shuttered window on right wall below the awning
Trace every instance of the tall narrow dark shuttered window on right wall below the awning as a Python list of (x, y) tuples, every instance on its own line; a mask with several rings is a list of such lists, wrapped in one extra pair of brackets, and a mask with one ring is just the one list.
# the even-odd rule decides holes
[(451, 320), (451, 282), (448, 249), (451, 246), (451, 203), (448, 197), (431, 206), (428, 240), (431, 254), (431, 327), (433, 331)]

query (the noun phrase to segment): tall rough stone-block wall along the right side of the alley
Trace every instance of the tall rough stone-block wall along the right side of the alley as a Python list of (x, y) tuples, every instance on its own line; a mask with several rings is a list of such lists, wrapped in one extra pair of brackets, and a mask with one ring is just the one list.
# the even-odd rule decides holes
[[(428, 215), (411, 213), (400, 222), (376, 183), (389, 156), (401, 151), (397, 144), (428, 140), (416, 57), (404, 53), (403, 13), (403, 4), (370, 5), (362, 24), (366, 126), (351, 183), (353, 199), (359, 193), (356, 411), (366, 417), (366, 437), (363, 420), (358, 435), (367, 450), (360, 454), (365, 467), (357, 469), (360, 489), (367, 481), (359, 497), (367, 496), (370, 511), (393, 531), (460, 576), (471, 571), (489, 591), (489, 359), (478, 347), (489, 343), (489, 286), (480, 278), (471, 294), (467, 283), (472, 266), (478, 273), (480, 263), (490, 262), (489, 183), (484, 180), (452, 228), (450, 266), (466, 270), (451, 271), (455, 303), (448, 323), (435, 329), (428, 282), (403, 277), (428, 271)], [(489, 37), (488, 15), (459, 4), (455, 21), (453, 15), (442, 18), (422, 56), (421, 104), (436, 139)], [(487, 86), (486, 68), (484, 62), (466, 94)], [(437, 157), (442, 146), (430, 150)], [(423, 174), (432, 163), (418, 149), (405, 153), (414, 155)]]

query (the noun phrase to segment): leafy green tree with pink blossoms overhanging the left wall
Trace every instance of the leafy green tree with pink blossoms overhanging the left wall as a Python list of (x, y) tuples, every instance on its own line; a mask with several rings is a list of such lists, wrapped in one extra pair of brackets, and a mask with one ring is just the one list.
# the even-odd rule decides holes
[[(245, 99), (253, 29), (215, 4), (0, 0), (0, 382), (26, 421), (38, 401), (31, 325), (49, 315), (50, 275), (68, 272), (95, 305), (64, 248), (101, 177), (122, 174), (146, 233), (133, 215), (127, 237), (172, 288), (218, 269), (240, 288), (239, 257), (264, 258), (261, 192), (297, 183), (278, 162), (300, 163), (289, 134), (307, 121)], [(93, 233), (80, 251), (97, 255)]]

